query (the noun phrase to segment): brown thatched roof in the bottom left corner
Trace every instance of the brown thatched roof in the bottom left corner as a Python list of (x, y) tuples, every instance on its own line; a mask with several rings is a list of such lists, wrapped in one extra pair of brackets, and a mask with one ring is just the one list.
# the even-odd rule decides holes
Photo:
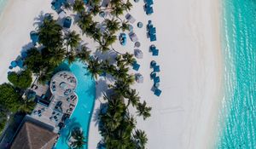
[(51, 149), (57, 135), (36, 123), (23, 123), (10, 149)]

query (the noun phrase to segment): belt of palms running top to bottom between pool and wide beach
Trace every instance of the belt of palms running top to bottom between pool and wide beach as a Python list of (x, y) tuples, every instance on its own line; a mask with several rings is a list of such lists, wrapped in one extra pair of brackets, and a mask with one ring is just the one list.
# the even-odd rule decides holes
[[(117, 32), (129, 30), (128, 22), (121, 20), (119, 16), (132, 8), (131, 3), (129, 0), (126, 2), (110, 1), (108, 4), (110, 7), (106, 9), (109, 9), (113, 15), (112, 18), (104, 18), (102, 21), (101, 24), (106, 26), (104, 32), (100, 32), (100, 29), (96, 27), (99, 22), (94, 21), (94, 16), (104, 11), (100, 1), (89, 0), (88, 5), (90, 9), (84, 5), (82, 0), (75, 1), (73, 11), (79, 17), (75, 23), (83, 34), (98, 43), (97, 50), (102, 53), (110, 50), (117, 52), (112, 48), (112, 44), (117, 40)], [(79, 37), (76, 38), (79, 40)], [(145, 101), (141, 103), (136, 89), (131, 89), (131, 84), (135, 82), (134, 75), (129, 74), (130, 66), (136, 61), (133, 54), (117, 52), (115, 62), (110, 63), (109, 61), (113, 60), (100, 60), (96, 55), (90, 57), (90, 51), (84, 48), (75, 57), (88, 64), (88, 70), (92, 77), (97, 79), (103, 73), (107, 73), (114, 79), (113, 83), (108, 84), (112, 94), (103, 93), (108, 110), (99, 114), (100, 132), (107, 148), (145, 148), (148, 141), (147, 135), (143, 130), (136, 129), (136, 119), (128, 110), (129, 106), (133, 106), (137, 109), (137, 116), (142, 116), (143, 119), (150, 117), (151, 107), (147, 106)]]

